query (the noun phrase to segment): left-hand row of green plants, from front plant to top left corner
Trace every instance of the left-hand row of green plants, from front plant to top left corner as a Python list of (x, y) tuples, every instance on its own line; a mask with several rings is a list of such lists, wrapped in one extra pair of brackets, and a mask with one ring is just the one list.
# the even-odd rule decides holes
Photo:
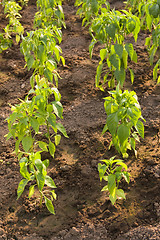
[(2, 4), (4, 13), (8, 13), (6, 17), (9, 18), (9, 24), (1, 35), (1, 50), (5, 50), (14, 39), (17, 43), (20, 42), (26, 61), (25, 67), (32, 71), (31, 89), (25, 99), (20, 99), (19, 104), (11, 107), (12, 113), (7, 118), (9, 132), (6, 138), (15, 139), (15, 153), (23, 177), (18, 185), (17, 199), (27, 184), (29, 198), (38, 187), (40, 206), (44, 200), (48, 210), (54, 214), (56, 185), (47, 175), (49, 160), (42, 159), (42, 153), (49, 152), (54, 158), (61, 134), (68, 137), (63, 125), (58, 121), (63, 118), (63, 106), (58, 91), (60, 76), (57, 65), (60, 61), (65, 64), (59, 46), (62, 41), (61, 29), (65, 26), (62, 2), (37, 0), (34, 30), (25, 33), (20, 23), (19, 11), (22, 7), (15, 1), (5, 0)]

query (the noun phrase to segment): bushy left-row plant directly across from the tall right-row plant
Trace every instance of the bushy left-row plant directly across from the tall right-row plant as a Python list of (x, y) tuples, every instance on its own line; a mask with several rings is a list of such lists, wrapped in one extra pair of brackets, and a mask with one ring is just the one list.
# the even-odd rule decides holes
[(58, 86), (57, 63), (65, 60), (60, 53), (61, 48), (57, 45), (60, 43), (62, 34), (56, 26), (40, 28), (27, 33), (22, 38), (21, 51), (24, 54), (28, 70), (34, 69), (34, 74), (45, 76), (49, 82), (53, 82), (53, 77)]

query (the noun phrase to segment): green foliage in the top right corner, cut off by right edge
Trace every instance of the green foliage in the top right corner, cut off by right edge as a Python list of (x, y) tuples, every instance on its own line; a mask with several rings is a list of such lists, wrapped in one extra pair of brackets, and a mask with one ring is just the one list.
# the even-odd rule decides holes
[[(141, 21), (141, 28), (149, 29), (152, 33), (150, 37), (146, 38), (145, 45), (148, 48), (150, 63), (153, 65), (155, 55), (158, 53), (160, 47), (160, 1), (159, 0), (128, 0), (127, 7), (129, 11), (137, 13)], [(159, 58), (158, 54), (158, 58)], [(157, 63), (153, 69), (153, 79), (157, 80), (157, 83), (160, 82), (160, 77), (158, 76), (158, 71), (160, 68), (160, 60), (158, 59)]]

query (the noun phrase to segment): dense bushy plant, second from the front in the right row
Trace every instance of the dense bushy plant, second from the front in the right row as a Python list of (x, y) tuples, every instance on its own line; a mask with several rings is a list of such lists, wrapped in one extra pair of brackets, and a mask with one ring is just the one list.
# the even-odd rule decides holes
[(109, 92), (111, 96), (104, 98), (104, 107), (107, 113), (106, 124), (103, 128), (103, 134), (109, 130), (112, 135), (112, 144), (124, 158), (128, 157), (127, 150), (135, 149), (136, 141), (139, 141), (138, 135), (144, 138), (143, 117), (141, 108), (134, 91), (125, 90), (122, 92), (119, 85), (116, 91)]

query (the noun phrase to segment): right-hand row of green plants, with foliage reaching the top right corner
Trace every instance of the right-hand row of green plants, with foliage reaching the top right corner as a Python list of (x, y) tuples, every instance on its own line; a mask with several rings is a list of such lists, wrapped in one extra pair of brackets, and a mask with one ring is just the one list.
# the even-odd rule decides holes
[[(100, 61), (97, 66), (95, 85), (105, 91), (106, 84), (110, 89), (109, 96), (105, 97), (104, 108), (107, 114), (106, 124), (102, 134), (107, 130), (111, 133), (112, 141), (109, 148), (114, 145), (123, 158), (128, 158), (128, 150), (133, 150), (137, 157), (136, 141), (144, 138), (144, 118), (137, 95), (134, 91), (122, 91), (126, 79), (126, 72), (130, 72), (131, 83), (134, 82), (134, 71), (129, 67), (129, 61), (137, 63), (137, 53), (134, 45), (129, 42), (133, 37), (136, 42), (140, 30), (148, 30), (151, 35), (146, 38), (150, 63), (159, 48), (159, 17), (160, 1), (128, 0), (125, 10), (110, 8), (110, 4), (103, 0), (76, 0), (77, 14), (83, 18), (82, 25), (88, 26), (92, 41), (89, 46), (92, 58), (94, 46), (99, 43)], [(153, 79), (158, 77), (160, 59), (153, 69)], [(158, 77), (157, 83), (160, 82)], [(100, 181), (105, 180), (107, 185), (102, 191), (109, 192), (112, 204), (118, 198), (124, 198), (123, 189), (119, 189), (122, 178), (129, 183), (130, 174), (127, 165), (120, 159), (102, 160), (98, 164)], [(124, 170), (125, 169), (125, 170)]]

